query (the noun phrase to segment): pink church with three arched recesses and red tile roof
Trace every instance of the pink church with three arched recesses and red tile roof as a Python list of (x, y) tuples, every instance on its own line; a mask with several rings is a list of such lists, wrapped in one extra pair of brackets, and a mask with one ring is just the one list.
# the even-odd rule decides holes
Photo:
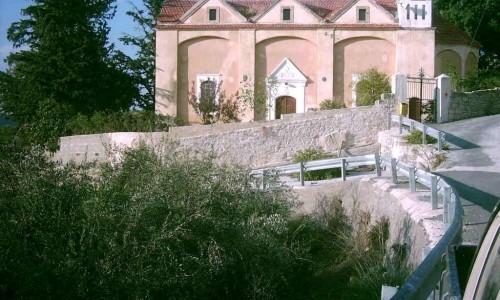
[(189, 93), (221, 83), (226, 95), (270, 85), (265, 115), (353, 104), (370, 69), (464, 76), (479, 44), (433, 13), (432, 0), (167, 0), (156, 26), (156, 111), (200, 121)]

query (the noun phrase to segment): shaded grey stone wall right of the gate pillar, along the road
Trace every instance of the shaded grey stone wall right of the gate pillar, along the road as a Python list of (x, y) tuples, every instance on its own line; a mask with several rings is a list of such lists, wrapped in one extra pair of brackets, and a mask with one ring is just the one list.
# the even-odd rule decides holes
[(500, 88), (466, 93), (453, 92), (448, 106), (448, 121), (500, 114)]

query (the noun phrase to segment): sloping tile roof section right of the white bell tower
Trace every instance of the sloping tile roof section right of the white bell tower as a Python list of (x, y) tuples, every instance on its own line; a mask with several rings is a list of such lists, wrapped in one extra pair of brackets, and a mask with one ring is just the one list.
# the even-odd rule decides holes
[(436, 43), (439, 44), (467, 44), (474, 47), (481, 47), (477, 41), (472, 38), (457, 26), (443, 18), (438, 14), (432, 16), (432, 26), (436, 28)]

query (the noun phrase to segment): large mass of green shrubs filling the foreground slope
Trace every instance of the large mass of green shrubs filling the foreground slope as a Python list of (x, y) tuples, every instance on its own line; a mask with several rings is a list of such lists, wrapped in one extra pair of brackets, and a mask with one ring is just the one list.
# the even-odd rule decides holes
[(164, 150), (127, 150), (97, 177), (96, 166), (0, 145), (0, 298), (352, 299), (380, 291), (363, 278), (387, 279), (385, 223), (352, 226), (363, 222), (347, 218), (340, 198), (296, 216), (279, 182), (262, 191), (248, 170)]

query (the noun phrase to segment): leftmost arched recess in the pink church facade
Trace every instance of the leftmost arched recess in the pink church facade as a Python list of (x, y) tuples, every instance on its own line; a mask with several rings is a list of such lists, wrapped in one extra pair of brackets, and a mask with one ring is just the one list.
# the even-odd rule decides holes
[[(208, 75), (207, 77), (211, 74), (222, 75), (221, 89), (228, 94), (237, 90), (238, 81), (233, 77), (238, 74), (239, 52), (230, 47), (227, 39), (214, 36), (189, 39), (179, 44), (177, 55), (178, 91), (191, 93), (193, 88), (196, 90), (196, 78), (200, 74)], [(186, 121), (200, 121), (189, 105), (188, 93), (177, 95), (177, 115)]]

